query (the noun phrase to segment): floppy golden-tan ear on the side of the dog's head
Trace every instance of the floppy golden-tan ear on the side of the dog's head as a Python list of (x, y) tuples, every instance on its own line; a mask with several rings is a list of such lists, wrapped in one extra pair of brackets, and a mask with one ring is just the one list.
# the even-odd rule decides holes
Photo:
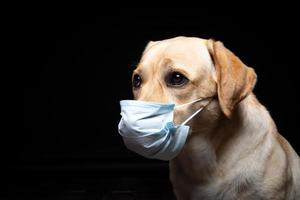
[(252, 92), (256, 73), (222, 42), (208, 40), (207, 47), (216, 68), (219, 104), (223, 113), (230, 117), (236, 104)]

